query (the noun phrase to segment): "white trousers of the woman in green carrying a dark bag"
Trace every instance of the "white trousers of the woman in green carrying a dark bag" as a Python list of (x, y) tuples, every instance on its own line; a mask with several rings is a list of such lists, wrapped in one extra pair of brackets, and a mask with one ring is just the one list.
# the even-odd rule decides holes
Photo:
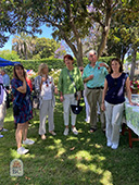
[(71, 124), (74, 126), (76, 123), (76, 114), (72, 112), (71, 104), (77, 104), (74, 94), (64, 95), (63, 108), (65, 126), (70, 124), (70, 110), (71, 110)]

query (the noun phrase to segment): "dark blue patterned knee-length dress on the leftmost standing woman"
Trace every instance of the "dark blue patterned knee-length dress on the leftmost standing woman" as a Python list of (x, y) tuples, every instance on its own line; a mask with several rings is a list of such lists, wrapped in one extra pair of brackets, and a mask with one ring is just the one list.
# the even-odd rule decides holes
[(23, 86), (23, 82), (15, 78), (11, 81), (11, 86), (13, 94), (13, 104), (17, 104), (20, 108), (20, 114), (14, 115), (14, 121), (15, 123), (25, 123), (33, 118), (30, 88), (27, 85), (26, 94), (20, 92), (16, 88)]

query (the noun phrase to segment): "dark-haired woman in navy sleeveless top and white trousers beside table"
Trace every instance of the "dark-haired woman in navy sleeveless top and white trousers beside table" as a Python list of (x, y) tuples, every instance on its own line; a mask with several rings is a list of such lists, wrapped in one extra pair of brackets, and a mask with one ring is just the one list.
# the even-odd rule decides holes
[(119, 59), (114, 58), (111, 61), (111, 72), (105, 77), (101, 104), (101, 109), (105, 111), (106, 118), (106, 146), (112, 149), (117, 149), (119, 143), (119, 127), (124, 111), (125, 90), (129, 103), (134, 104), (131, 102), (129, 77), (123, 72), (123, 65)]

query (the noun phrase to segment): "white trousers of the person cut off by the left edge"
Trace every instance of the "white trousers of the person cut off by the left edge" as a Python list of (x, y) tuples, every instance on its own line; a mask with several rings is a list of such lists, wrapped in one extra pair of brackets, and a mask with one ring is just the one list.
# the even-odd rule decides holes
[(5, 101), (3, 101), (2, 104), (0, 104), (0, 128), (3, 127), (5, 113), (7, 113), (7, 103)]

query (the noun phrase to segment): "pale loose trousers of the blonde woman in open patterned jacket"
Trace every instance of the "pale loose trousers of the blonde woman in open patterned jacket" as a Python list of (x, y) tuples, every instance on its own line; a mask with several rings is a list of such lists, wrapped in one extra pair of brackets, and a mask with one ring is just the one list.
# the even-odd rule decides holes
[(39, 135), (46, 134), (46, 120), (48, 115), (48, 123), (49, 123), (49, 132), (54, 130), (54, 123), (53, 123), (53, 106), (52, 100), (42, 100), (42, 104), (40, 107), (39, 111)]

